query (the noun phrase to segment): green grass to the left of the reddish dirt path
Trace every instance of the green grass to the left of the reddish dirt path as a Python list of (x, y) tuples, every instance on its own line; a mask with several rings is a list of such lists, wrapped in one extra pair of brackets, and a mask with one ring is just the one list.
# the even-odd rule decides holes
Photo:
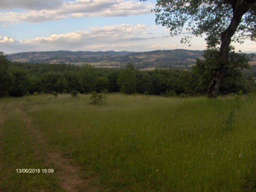
[(43, 174), (42, 171), (17, 172), (17, 169), (50, 168), (41, 156), (44, 155), (44, 151), (40, 154), (35, 152), (40, 146), (36, 148), (35, 138), (26, 129), (18, 108), (19, 103), (18, 99), (0, 100), (0, 191), (63, 191), (53, 175)]

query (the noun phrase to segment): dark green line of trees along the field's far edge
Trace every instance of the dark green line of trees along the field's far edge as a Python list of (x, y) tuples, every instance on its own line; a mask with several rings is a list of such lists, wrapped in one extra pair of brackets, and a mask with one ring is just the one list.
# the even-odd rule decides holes
[[(0, 96), (26, 94), (123, 92), (164, 96), (205, 95), (214, 75), (217, 52), (205, 52), (192, 70), (137, 70), (132, 63), (122, 69), (94, 68), (89, 64), (29, 64), (10, 62), (0, 52)], [(220, 94), (256, 92), (256, 68), (249, 70), (248, 58), (230, 53), (230, 70), (224, 77)]]

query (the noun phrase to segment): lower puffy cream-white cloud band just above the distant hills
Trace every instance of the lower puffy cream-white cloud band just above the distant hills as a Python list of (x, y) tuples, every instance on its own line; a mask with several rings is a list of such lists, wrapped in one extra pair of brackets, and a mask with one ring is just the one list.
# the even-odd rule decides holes
[[(52, 34), (33, 39), (15, 41), (13, 38), (0, 38), (0, 50), (6, 47), (12, 48), (11, 52), (19, 50), (99, 50), (103, 48), (132, 47), (140, 41), (152, 39), (144, 34), (149, 27), (144, 24), (121, 24), (104, 27), (90, 27), (90, 30), (80, 30), (63, 34)], [(10, 51), (9, 51), (10, 52)]]

